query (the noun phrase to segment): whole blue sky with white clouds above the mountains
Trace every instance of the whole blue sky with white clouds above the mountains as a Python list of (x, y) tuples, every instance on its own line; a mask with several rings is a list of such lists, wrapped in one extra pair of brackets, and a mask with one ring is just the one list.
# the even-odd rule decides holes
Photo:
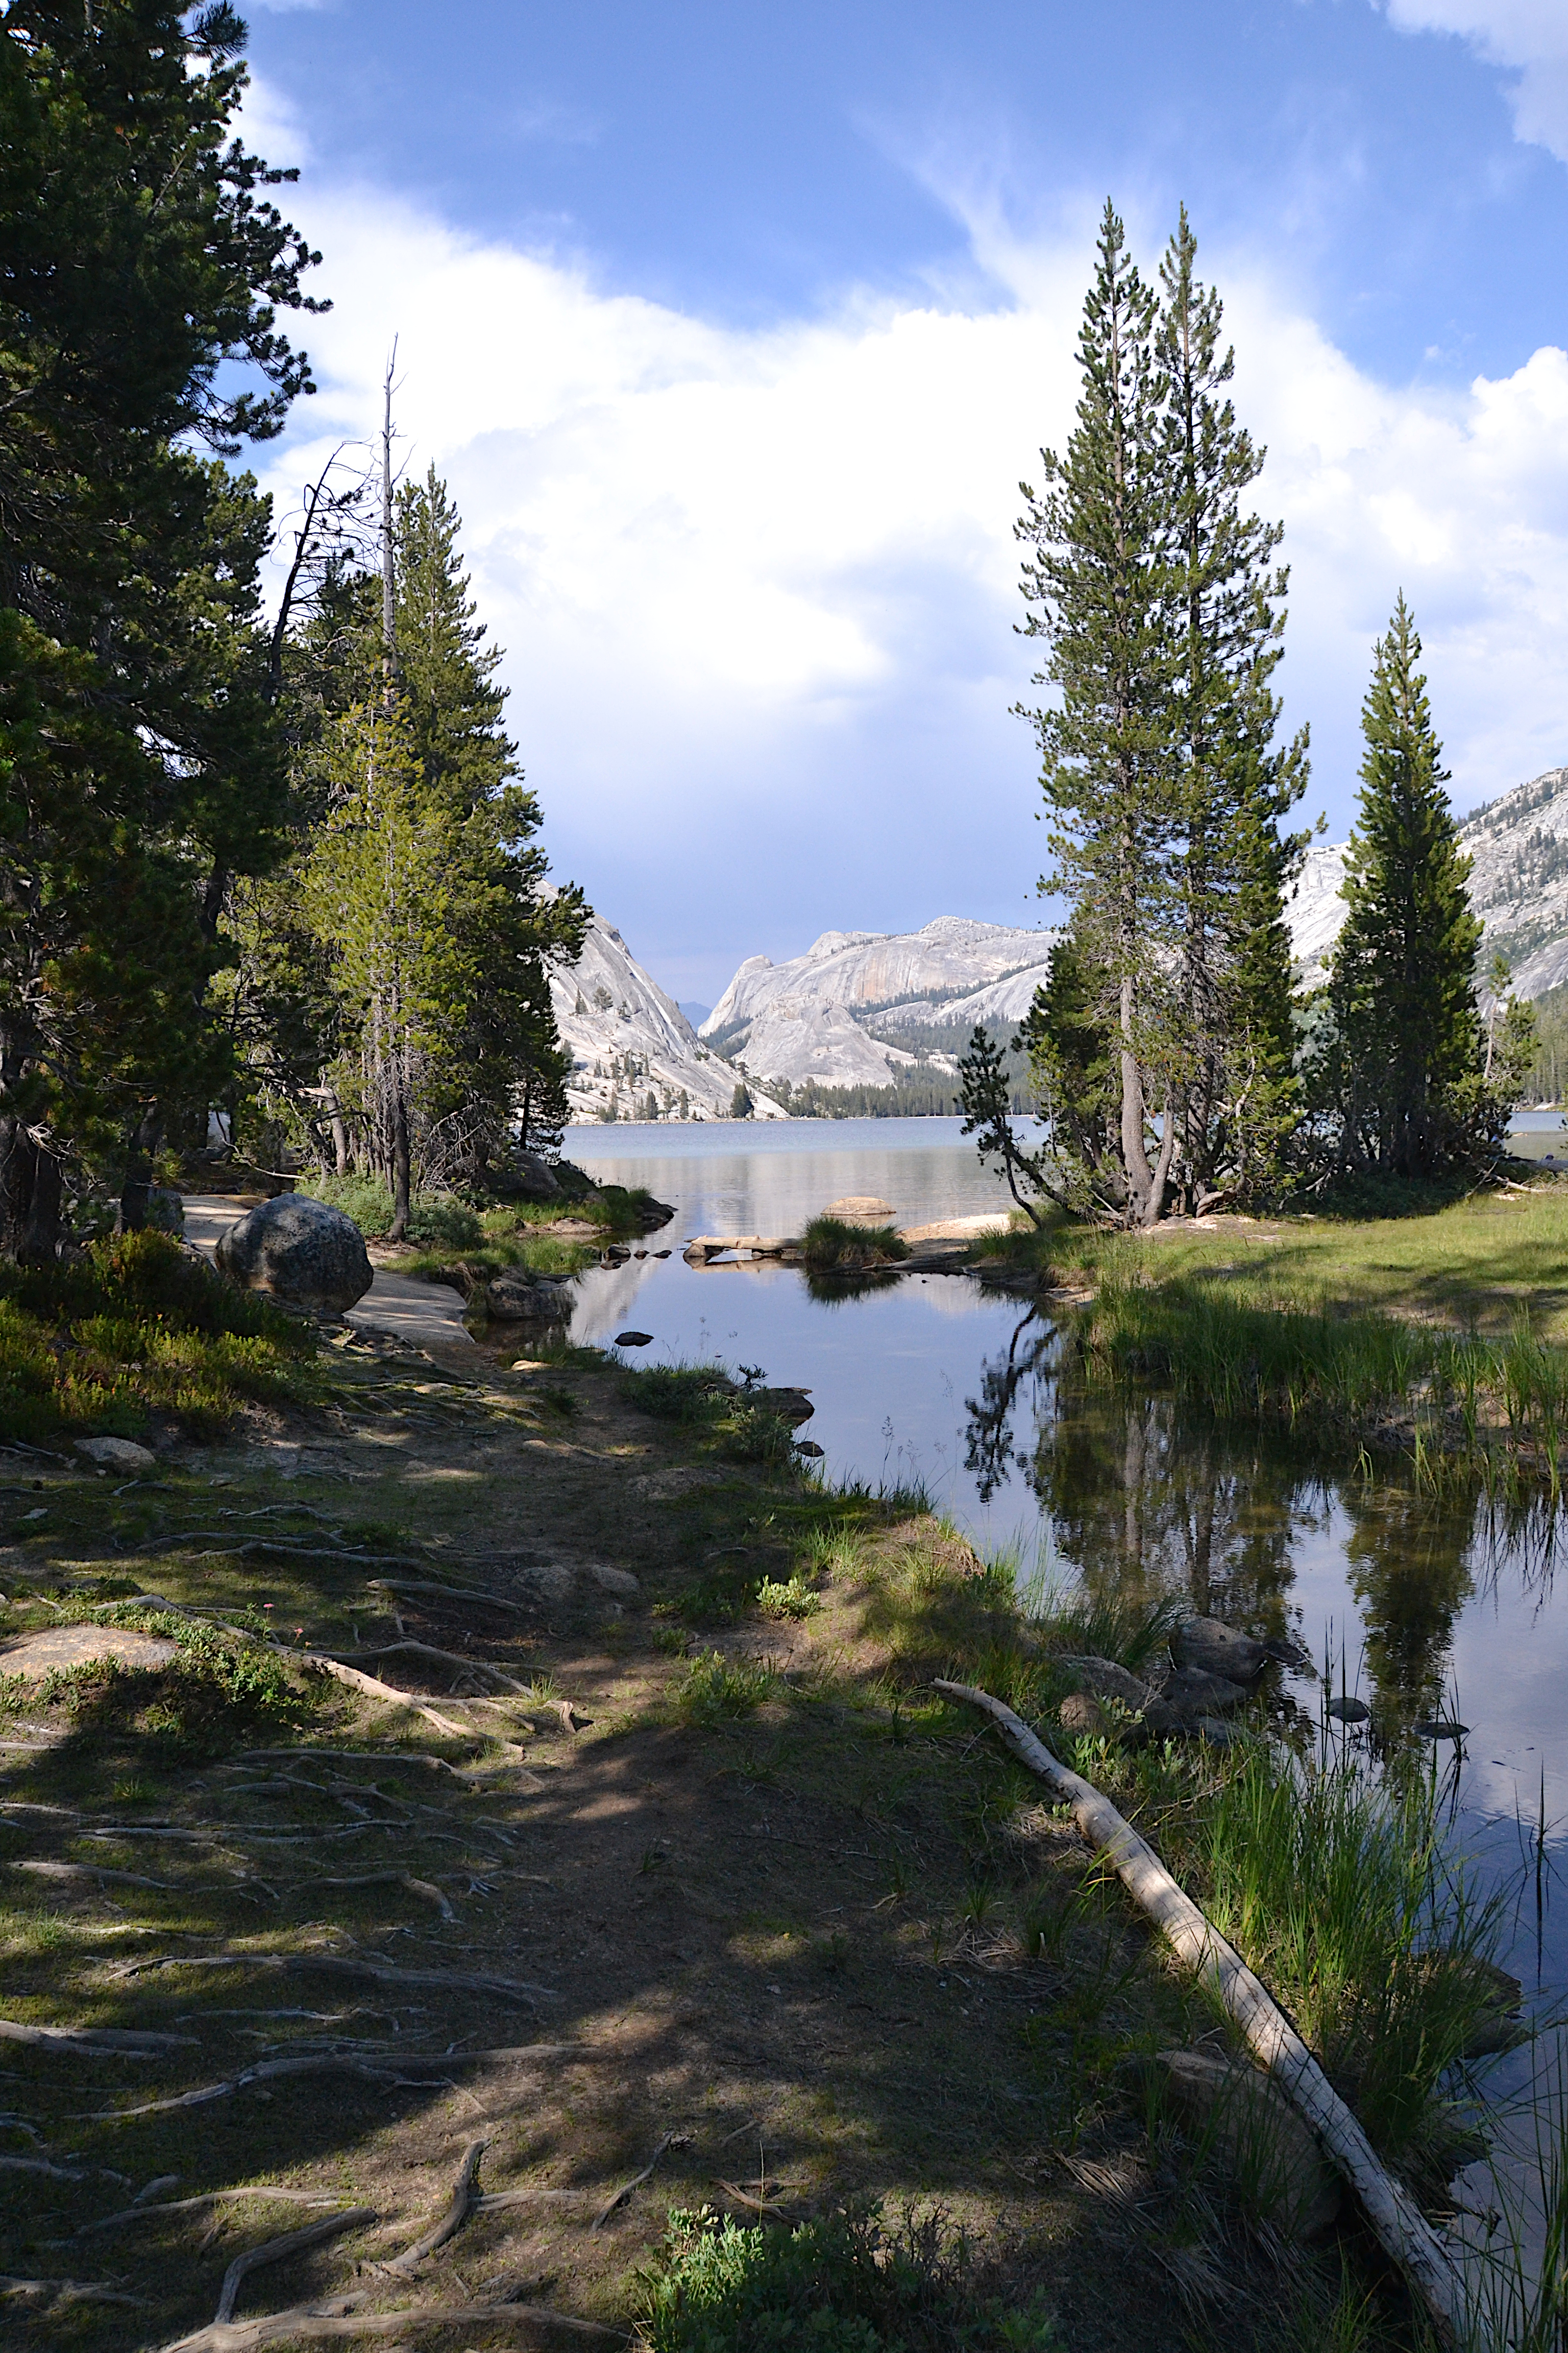
[(1286, 522), (1307, 814), (1403, 586), (1455, 800), (1568, 760), (1568, 5), (256, 7), (322, 393), (465, 515), (576, 875), (677, 995), (936, 913), (1041, 920), (1011, 525), (1105, 193), (1178, 200)]

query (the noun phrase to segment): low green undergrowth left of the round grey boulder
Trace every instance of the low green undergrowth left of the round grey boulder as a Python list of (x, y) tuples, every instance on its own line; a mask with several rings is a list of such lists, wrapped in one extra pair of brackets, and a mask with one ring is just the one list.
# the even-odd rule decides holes
[(5, 1438), (136, 1435), (150, 1414), (214, 1438), (244, 1400), (320, 1393), (310, 1327), (167, 1233), (92, 1242), (71, 1264), (0, 1268)]

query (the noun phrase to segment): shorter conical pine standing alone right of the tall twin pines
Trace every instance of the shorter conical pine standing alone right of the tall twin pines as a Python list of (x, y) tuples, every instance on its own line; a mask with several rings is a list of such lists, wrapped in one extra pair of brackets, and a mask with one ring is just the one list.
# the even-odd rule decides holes
[(1321, 1056), (1340, 1169), (1385, 1176), (1429, 1176), (1495, 1127), (1476, 1009), (1481, 922), (1418, 661), (1401, 593), (1361, 706), (1361, 802)]

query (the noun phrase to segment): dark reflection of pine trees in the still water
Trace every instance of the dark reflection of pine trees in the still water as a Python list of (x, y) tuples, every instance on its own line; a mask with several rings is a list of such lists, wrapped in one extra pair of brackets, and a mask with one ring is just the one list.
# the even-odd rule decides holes
[[(1512, 1513), (1476, 1485), (1418, 1492), (1399, 1471), (1366, 1475), (1279, 1438), (1248, 1438), (1178, 1414), (1173, 1398), (1110, 1384), (1072, 1334), (1037, 1308), (966, 1398), (966, 1466), (985, 1504), (1018, 1471), (1051, 1522), (1056, 1555), (1095, 1600), (1182, 1595), (1265, 1640), (1321, 1638), (1293, 1602), (1312, 1537), (1345, 1548), (1361, 1631), (1345, 1628), (1345, 1673), (1361, 1682), (1380, 1741), (1446, 1713), (1448, 1661), (1476, 1562), (1514, 1558), (1542, 1595), (1556, 1513)], [(1319, 1661), (1321, 1664), (1321, 1661)], [(1340, 1659), (1333, 1680), (1340, 1682)]]

